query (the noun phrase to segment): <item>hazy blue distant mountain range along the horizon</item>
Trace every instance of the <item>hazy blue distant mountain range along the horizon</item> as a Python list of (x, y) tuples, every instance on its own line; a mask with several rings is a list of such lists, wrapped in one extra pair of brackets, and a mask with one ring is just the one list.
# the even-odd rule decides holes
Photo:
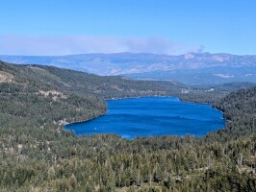
[(83, 54), (69, 56), (0, 56), (19, 64), (53, 65), (97, 75), (122, 75), (132, 79), (171, 80), (184, 84), (256, 83), (256, 56), (188, 53)]

